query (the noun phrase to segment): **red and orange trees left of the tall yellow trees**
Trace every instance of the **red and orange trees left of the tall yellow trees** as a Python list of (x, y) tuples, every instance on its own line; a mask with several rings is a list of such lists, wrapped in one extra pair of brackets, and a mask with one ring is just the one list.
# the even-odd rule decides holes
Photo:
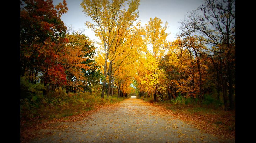
[(67, 30), (61, 20), (68, 10), (66, 1), (56, 6), (52, 3), (21, 1), (21, 91), (34, 91), (42, 84), (44, 94), (59, 87), (67, 92), (91, 92), (101, 79), (93, 60), (95, 47), (81, 32)]

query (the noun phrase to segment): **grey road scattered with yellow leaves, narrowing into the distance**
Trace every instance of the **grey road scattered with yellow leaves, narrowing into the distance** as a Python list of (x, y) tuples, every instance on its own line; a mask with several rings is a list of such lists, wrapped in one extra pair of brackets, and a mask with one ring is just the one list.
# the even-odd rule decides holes
[(59, 122), (39, 130), (31, 142), (235, 142), (220, 140), (162, 108), (132, 97), (118, 106), (104, 107), (77, 122)]

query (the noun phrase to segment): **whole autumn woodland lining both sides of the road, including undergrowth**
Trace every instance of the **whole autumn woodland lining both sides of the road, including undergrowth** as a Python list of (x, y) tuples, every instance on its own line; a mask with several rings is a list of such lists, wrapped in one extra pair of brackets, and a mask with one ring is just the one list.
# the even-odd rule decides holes
[[(235, 0), (206, 0), (179, 21), (142, 25), (139, 0), (83, 0), (85, 26), (65, 26), (63, 0), (20, 1), (20, 118), (60, 118), (137, 96), (235, 110)], [(97, 51), (97, 52), (96, 52)]]

